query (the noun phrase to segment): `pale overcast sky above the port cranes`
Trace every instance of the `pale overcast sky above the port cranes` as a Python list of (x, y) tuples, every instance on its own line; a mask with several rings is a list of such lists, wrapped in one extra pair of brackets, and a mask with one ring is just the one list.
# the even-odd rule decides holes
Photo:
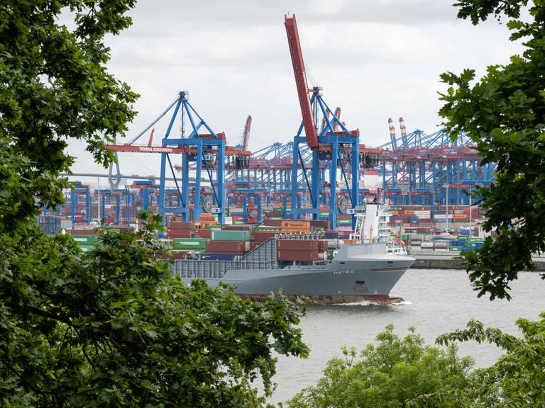
[[(141, 95), (128, 137), (189, 91), (194, 108), (228, 143), (247, 115), (250, 149), (292, 140), (301, 114), (284, 27), (295, 14), (309, 85), (340, 106), (360, 142), (389, 140), (387, 119), (407, 130), (439, 130), (441, 72), (503, 64), (519, 52), (505, 25), (456, 20), (453, 0), (141, 0), (133, 26), (107, 39), (109, 69)], [(156, 128), (156, 143), (162, 128)], [(397, 128), (399, 135), (399, 128)], [(123, 142), (123, 141), (120, 141)], [(142, 142), (147, 142), (144, 137)], [(99, 171), (81, 144), (73, 171)], [(159, 174), (159, 157), (120, 154), (123, 174)]]

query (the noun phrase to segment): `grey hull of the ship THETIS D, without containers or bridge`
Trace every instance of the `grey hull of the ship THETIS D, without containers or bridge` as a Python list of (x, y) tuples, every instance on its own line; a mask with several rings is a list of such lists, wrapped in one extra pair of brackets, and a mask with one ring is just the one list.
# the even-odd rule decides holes
[[(214, 276), (213, 266), (202, 263), (218, 261), (192, 262), (196, 266), (201, 263), (198, 266), (201, 273), (194, 268), (186, 268), (185, 273), (175, 273), (185, 283), (193, 278), (204, 278), (212, 287), (224, 282), (233, 285), (241, 297), (254, 300), (282, 290), (288, 297), (304, 295), (320, 303), (370, 300), (386, 304), (401, 300), (390, 297), (390, 290), (414, 259), (386, 254), (385, 244), (353, 244), (342, 246), (332, 261), (312, 265), (282, 265), (274, 261), (268, 262), (267, 267), (262, 265), (263, 262), (249, 259), (224, 265), (223, 273), (217, 276)], [(208, 275), (205, 270), (208, 270)]]

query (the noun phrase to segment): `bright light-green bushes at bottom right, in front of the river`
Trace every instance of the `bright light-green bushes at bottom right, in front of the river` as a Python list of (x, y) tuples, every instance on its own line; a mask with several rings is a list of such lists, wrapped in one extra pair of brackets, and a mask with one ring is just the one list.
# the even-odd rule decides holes
[[(443, 334), (439, 346), (422, 337), (400, 339), (387, 326), (378, 344), (344, 358), (331, 359), (316, 385), (287, 402), (290, 408), (503, 408), (545, 406), (545, 312), (533, 322), (518, 319), (522, 336), (504, 333), (471, 320), (467, 328)], [(504, 354), (486, 368), (472, 369), (470, 358), (458, 358), (458, 341), (493, 344)]]

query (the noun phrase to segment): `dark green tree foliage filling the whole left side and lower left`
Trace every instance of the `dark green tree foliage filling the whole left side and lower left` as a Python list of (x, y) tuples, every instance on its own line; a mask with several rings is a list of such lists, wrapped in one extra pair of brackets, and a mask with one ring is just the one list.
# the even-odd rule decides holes
[[(153, 216), (142, 232), (102, 230), (82, 253), (31, 221), (62, 200), (83, 140), (97, 162), (135, 100), (106, 70), (105, 35), (133, 0), (7, 0), (0, 7), (0, 405), (262, 407), (272, 351), (307, 356), (301, 304), (241, 300), (170, 277)], [(75, 18), (69, 30), (59, 22)]]

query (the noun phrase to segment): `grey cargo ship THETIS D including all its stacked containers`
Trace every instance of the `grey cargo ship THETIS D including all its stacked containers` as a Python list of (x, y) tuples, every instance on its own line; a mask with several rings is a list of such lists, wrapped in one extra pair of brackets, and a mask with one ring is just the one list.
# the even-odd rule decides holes
[[(165, 241), (172, 246), (172, 274), (187, 284), (195, 278), (211, 287), (228, 283), (252, 300), (281, 290), (321, 304), (400, 302), (390, 290), (414, 259), (392, 251), (386, 213), (379, 207), (358, 212), (353, 233), (328, 231), (323, 221), (265, 220), (269, 225), (251, 226), (172, 220)], [(84, 251), (99, 238), (92, 229), (70, 234)]]

